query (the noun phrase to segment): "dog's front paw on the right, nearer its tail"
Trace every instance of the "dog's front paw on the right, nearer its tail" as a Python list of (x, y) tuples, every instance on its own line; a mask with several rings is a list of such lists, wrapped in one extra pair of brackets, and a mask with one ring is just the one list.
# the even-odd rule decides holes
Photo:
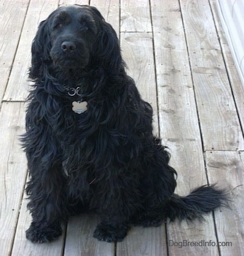
[(127, 235), (128, 230), (129, 226), (127, 225), (118, 225), (113, 227), (109, 224), (100, 223), (96, 227), (93, 237), (100, 241), (120, 242)]

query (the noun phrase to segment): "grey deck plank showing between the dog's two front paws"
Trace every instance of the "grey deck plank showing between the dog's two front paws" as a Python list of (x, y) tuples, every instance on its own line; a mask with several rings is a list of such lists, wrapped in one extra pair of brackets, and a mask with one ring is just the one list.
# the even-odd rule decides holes
[(114, 255), (114, 243), (106, 243), (93, 238), (93, 231), (98, 224), (98, 216), (82, 214), (68, 222), (65, 256), (110, 256)]

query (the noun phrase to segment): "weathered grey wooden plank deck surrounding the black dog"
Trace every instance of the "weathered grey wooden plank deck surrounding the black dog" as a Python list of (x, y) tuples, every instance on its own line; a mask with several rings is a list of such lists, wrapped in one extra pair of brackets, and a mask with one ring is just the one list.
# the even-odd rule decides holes
[[(59, 4), (76, 2), (98, 7), (120, 36), (128, 73), (152, 104), (155, 132), (170, 148), (177, 192), (186, 195), (217, 182), (230, 190), (232, 209), (218, 209), (202, 223), (132, 227), (117, 244), (92, 237), (96, 216), (71, 219), (54, 243), (26, 240), (27, 167), (19, 136), (24, 132), (30, 45), (41, 20)], [(244, 86), (215, 0), (1, 0), (0, 12), (2, 256), (244, 255)], [(184, 240), (210, 243), (180, 248)]]

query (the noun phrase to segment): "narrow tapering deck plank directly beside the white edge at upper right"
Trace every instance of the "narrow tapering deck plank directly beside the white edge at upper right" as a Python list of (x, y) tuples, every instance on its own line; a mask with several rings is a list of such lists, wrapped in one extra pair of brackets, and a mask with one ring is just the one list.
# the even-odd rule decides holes
[(215, 25), (218, 31), (218, 37), (221, 43), (221, 49), (223, 52), (224, 62), (226, 64), (229, 81), (231, 83), (232, 92), (234, 94), (235, 104), (237, 106), (237, 111), (239, 113), (240, 123), (242, 126), (242, 130), (244, 130), (244, 85), (240, 80), (239, 73), (237, 72), (237, 68), (235, 67), (235, 63), (231, 55), (231, 51), (229, 49), (228, 43), (226, 42), (226, 38), (224, 37), (223, 29), (221, 28), (221, 23), (218, 18), (216, 1), (211, 0), (210, 4), (213, 11)]

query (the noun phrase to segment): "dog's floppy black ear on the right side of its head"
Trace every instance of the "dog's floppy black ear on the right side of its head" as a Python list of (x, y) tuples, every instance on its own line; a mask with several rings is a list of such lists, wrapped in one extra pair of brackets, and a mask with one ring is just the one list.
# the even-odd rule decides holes
[(122, 64), (117, 34), (103, 18), (96, 42), (95, 58), (110, 73), (117, 73)]

